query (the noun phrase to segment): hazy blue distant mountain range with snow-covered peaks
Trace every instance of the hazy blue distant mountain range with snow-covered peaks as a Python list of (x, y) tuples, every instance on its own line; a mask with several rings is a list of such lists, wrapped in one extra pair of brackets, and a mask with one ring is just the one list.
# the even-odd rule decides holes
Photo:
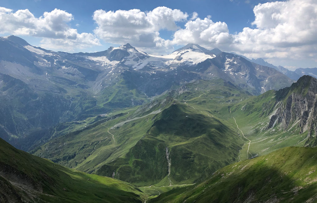
[(194, 44), (155, 56), (130, 44), (69, 54), (31, 46), (13, 35), (1, 37), (0, 43), (1, 112), (11, 115), (0, 122), (2, 137), (20, 149), (26, 149), (21, 138), (37, 137), (60, 122), (140, 105), (198, 79), (221, 78), (255, 95), (293, 82), (272, 68)]

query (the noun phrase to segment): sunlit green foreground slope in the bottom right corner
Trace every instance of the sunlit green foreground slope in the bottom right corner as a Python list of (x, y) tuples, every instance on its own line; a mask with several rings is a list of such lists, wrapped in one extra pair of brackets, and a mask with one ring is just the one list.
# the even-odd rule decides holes
[(286, 147), (234, 163), (210, 179), (147, 202), (316, 202), (317, 149)]

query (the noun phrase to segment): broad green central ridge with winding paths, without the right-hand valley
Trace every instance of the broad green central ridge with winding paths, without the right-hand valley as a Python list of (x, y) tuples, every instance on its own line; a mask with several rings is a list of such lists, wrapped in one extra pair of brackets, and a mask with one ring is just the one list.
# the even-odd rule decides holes
[[(109, 114), (89, 127), (81, 125), (82, 130), (32, 152), (138, 186), (193, 183), (238, 160), (245, 141), (232, 118), (217, 118), (212, 109), (247, 96), (221, 79), (200, 80), (139, 108)], [(191, 106), (195, 101), (199, 105)]]

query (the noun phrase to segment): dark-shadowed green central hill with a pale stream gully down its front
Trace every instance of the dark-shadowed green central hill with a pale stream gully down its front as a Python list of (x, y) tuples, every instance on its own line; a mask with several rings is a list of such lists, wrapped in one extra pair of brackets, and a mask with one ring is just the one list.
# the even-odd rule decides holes
[(156, 115), (125, 156), (103, 165), (97, 174), (114, 173), (137, 185), (157, 184), (162, 179), (166, 184), (188, 184), (236, 161), (242, 143), (235, 131), (216, 118), (175, 102)]

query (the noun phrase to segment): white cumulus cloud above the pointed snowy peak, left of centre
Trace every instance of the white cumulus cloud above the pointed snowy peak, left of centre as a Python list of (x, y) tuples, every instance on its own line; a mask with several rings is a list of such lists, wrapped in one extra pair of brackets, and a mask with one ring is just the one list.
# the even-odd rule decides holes
[(105, 11), (96, 10), (93, 15), (98, 27), (94, 33), (101, 39), (116, 43), (132, 43), (136, 47), (145, 49), (170, 47), (170, 41), (159, 36), (160, 30), (176, 31), (180, 29), (176, 22), (184, 21), (188, 17), (178, 9), (157, 7), (149, 12), (139, 9)]

